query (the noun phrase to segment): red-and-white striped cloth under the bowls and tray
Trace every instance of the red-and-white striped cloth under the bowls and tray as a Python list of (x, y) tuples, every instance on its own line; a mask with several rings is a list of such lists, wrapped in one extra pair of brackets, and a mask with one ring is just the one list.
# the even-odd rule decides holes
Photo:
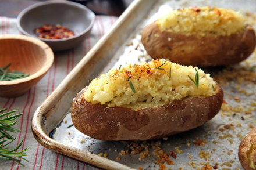
[[(84, 162), (45, 149), (35, 140), (30, 124), (37, 107), (54, 91), (56, 86), (61, 83), (74, 66), (86, 55), (88, 50), (115, 23), (116, 19), (117, 17), (114, 16), (97, 16), (91, 30), (91, 35), (86, 38), (83, 44), (66, 52), (55, 52), (55, 60), (51, 69), (29, 92), (20, 97), (10, 99), (0, 97), (0, 109), (8, 108), (8, 111), (19, 110), (17, 113), (23, 113), (15, 125), (21, 131), (14, 134), (14, 137), (17, 137), (17, 139), (10, 144), (10, 148), (14, 148), (22, 139), (24, 139), (22, 149), (30, 147), (26, 151), (28, 156), (25, 157), (29, 162), (22, 160), (25, 167), (13, 161), (0, 159), (0, 169), (98, 169)], [(1, 34), (21, 34), (16, 27), (16, 19), (0, 17)]]

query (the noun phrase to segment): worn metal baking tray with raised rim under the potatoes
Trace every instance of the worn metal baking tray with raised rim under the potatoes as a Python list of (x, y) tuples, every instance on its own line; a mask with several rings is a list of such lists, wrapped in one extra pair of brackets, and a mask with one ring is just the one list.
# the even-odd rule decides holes
[[(48, 149), (104, 169), (158, 169), (158, 157), (154, 155), (156, 146), (169, 155), (171, 151), (177, 154), (176, 158), (170, 156), (175, 162), (174, 165), (165, 163), (167, 169), (201, 169), (207, 163), (218, 169), (243, 169), (238, 160), (237, 150), (241, 139), (251, 126), (256, 124), (256, 104), (253, 104), (256, 100), (256, 80), (255, 77), (250, 77), (251, 74), (246, 74), (247, 79), (251, 78), (254, 81), (246, 83), (240, 81), (244, 78), (243, 75), (240, 78), (220, 77), (243, 69), (253, 73), (255, 53), (246, 62), (236, 66), (205, 68), (205, 71), (220, 81), (225, 91), (225, 103), (228, 104), (223, 104), (222, 110), (211, 121), (191, 131), (146, 142), (106, 142), (92, 139), (77, 131), (74, 126), (67, 126), (72, 124), (70, 106), (74, 96), (90, 84), (92, 79), (120, 65), (151, 60), (140, 42), (140, 32), (146, 24), (172, 9), (209, 5), (256, 12), (256, 6), (252, 4), (253, 0), (135, 0), (51, 96), (37, 108), (31, 124), (35, 138)], [(243, 88), (246, 92), (241, 91)], [(141, 158), (140, 154), (131, 154), (132, 144), (147, 146), (150, 155)], [(127, 153), (124, 154), (123, 151)]]

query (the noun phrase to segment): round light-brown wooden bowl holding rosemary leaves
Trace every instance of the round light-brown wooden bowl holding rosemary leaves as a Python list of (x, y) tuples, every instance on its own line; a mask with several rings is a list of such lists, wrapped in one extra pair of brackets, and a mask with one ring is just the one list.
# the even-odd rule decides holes
[(1, 97), (16, 97), (29, 91), (51, 68), (54, 53), (45, 42), (26, 35), (0, 36), (0, 67), (30, 74), (12, 81), (0, 81)]

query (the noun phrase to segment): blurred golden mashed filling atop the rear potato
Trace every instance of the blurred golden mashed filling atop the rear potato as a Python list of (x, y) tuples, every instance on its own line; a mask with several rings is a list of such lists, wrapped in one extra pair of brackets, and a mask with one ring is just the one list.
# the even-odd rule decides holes
[(183, 8), (173, 10), (156, 21), (161, 31), (185, 35), (230, 35), (243, 30), (246, 19), (231, 9)]

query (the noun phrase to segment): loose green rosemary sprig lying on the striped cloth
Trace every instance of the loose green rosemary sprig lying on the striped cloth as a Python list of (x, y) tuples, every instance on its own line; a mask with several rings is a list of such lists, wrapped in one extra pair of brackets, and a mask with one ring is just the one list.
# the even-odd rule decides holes
[[(17, 122), (17, 121), (13, 122), (13, 120), (15, 120), (17, 117), (22, 115), (22, 113), (13, 115), (13, 113), (15, 113), (17, 110), (4, 113), (4, 111), (6, 110), (7, 108), (0, 110), (0, 113), (1, 113), (0, 114), (0, 135), (1, 135), (0, 139), (2, 139), (0, 141), (0, 158), (5, 160), (12, 160), (24, 166), (21, 163), (21, 159), (27, 161), (25, 158), (23, 158), (24, 156), (27, 156), (27, 154), (23, 152), (28, 150), (29, 147), (27, 147), (24, 150), (17, 151), (20, 148), (20, 146), (22, 146), (23, 140), (12, 150), (8, 150), (8, 147), (7, 147), (8, 144), (12, 143), (16, 139), (16, 138), (12, 138), (12, 135), (10, 135), (7, 131), (9, 132), (20, 131), (19, 129), (13, 128), (12, 126), (15, 125)], [(3, 139), (3, 138), (6, 138), (6, 139)], [(8, 143), (5, 144), (5, 142), (8, 142)]]

